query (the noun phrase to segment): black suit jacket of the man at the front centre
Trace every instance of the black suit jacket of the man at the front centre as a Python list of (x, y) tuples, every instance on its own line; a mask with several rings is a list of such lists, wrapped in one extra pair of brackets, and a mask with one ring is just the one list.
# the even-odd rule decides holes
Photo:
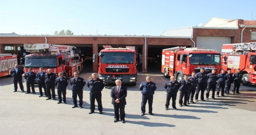
[(121, 86), (120, 92), (119, 92), (119, 98), (118, 100), (120, 101), (120, 103), (116, 103), (115, 100), (118, 97), (118, 91), (117, 91), (117, 86), (114, 86), (111, 88), (111, 94), (110, 94), (111, 98), (112, 98), (112, 105), (115, 104), (119, 104), (119, 105), (126, 105), (126, 96), (127, 96), (127, 88), (124, 86)]

